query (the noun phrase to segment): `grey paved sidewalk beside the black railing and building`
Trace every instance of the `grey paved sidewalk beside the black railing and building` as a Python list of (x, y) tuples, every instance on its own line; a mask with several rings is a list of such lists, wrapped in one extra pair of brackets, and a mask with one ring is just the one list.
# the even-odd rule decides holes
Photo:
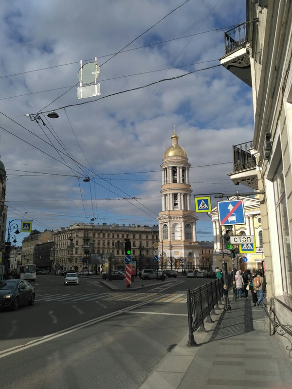
[(251, 297), (219, 305), (207, 332), (188, 334), (167, 353), (140, 389), (292, 389), (292, 366), (277, 336), (269, 336), (268, 319)]

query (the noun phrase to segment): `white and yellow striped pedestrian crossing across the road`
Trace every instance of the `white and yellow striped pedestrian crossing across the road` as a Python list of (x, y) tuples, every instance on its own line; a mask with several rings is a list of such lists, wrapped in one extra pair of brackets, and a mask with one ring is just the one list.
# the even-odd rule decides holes
[(116, 293), (68, 293), (68, 294), (40, 294), (36, 297), (36, 302), (39, 301), (59, 301), (59, 302), (76, 302), (76, 301), (93, 301), (93, 300), (103, 300), (103, 301), (138, 301), (138, 302), (183, 302), (186, 303), (186, 295), (184, 293), (125, 293), (125, 292), (116, 292)]

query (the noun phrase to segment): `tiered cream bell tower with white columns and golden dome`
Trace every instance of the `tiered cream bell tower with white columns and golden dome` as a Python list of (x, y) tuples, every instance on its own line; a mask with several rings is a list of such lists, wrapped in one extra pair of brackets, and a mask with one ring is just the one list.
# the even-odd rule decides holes
[(172, 144), (164, 153), (162, 169), (162, 212), (159, 222), (160, 257), (163, 268), (199, 269), (199, 245), (196, 235), (198, 220), (191, 211), (190, 164), (175, 130)]

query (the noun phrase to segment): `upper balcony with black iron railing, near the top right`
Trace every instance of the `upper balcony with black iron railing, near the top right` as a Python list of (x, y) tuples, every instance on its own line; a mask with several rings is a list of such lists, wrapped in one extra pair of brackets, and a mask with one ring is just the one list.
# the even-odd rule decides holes
[(241, 23), (232, 30), (224, 33), (225, 55), (220, 63), (237, 78), (252, 87), (250, 46), (247, 41), (248, 23)]

